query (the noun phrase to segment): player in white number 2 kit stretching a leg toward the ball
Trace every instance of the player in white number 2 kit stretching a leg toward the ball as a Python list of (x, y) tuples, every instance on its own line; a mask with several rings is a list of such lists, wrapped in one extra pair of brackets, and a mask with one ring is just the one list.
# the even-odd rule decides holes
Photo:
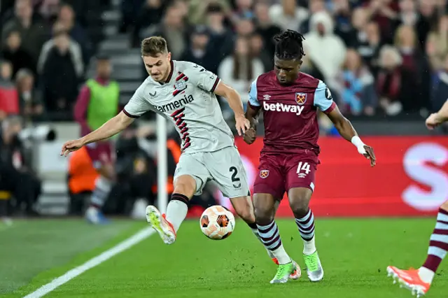
[[(186, 218), (188, 202), (194, 194), (202, 193), (207, 181), (212, 180), (225, 197), (230, 198), (236, 213), (260, 240), (246, 171), (215, 96), (228, 100), (235, 112), (237, 132), (241, 135), (250, 124), (244, 117), (239, 94), (202, 66), (172, 61), (167, 42), (160, 36), (146, 38), (141, 43), (141, 55), (149, 76), (123, 111), (91, 134), (66, 142), (61, 154), (67, 155), (87, 143), (118, 134), (135, 118), (154, 111), (174, 122), (182, 139), (182, 155), (174, 173), (174, 192), (167, 214), (161, 214), (155, 206), (148, 206), (148, 224), (165, 243), (174, 243)], [(270, 256), (269, 251), (268, 254)], [(299, 276), (300, 269), (291, 274), (291, 278)]]

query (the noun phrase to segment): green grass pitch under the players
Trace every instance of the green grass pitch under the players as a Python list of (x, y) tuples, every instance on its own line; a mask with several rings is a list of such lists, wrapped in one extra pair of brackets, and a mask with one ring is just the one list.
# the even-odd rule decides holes
[[(277, 220), (283, 245), (303, 267), (294, 221)], [(386, 276), (390, 264), (418, 267), (426, 257), (435, 218), (317, 219), (316, 245), (325, 271), (310, 283), (270, 285), (276, 267), (251, 230), (212, 241), (197, 220), (186, 221), (172, 246), (153, 234), (50, 292), (48, 297), (412, 297)], [(96, 227), (83, 220), (18, 220), (0, 226), (0, 297), (24, 297), (146, 227), (115, 220)], [(447, 297), (442, 264), (427, 297)], [(45, 296), (46, 297), (46, 296)]]

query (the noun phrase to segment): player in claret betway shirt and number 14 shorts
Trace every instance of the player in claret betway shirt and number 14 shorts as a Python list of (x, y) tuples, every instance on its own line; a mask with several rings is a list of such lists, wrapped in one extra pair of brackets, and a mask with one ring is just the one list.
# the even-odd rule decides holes
[(328, 115), (344, 139), (370, 159), (371, 166), (376, 162), (373, 149), (360, 140), (349, 120), (339, 112), (325, 83), (300, 72), (303, 39), (292, 30), (275, 36), (274, 70), (253, 81), (246, 111), (246, 118), (251, 121), (251, 129), (244, 134), (248, 144), (255, 141), (255, 124), (260, 111), (264, 118), (264, 147), (253, 185), (253, 205), (258, 233), (279, 264), (271, 283), (286, 283), (295, 270), (295, 262), (284, 250), (274, 222), (277, 201), (285, 191), (303, 239), (308, 278), (310, 281), (323, 278), (314, 242), (314, 215), (309, 208), (319, 164), (318, 109)]

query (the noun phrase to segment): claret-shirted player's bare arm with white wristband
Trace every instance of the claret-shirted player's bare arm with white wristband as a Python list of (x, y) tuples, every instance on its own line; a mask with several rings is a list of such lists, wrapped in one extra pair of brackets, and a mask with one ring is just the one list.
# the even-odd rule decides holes
[(365, 143), (361, 141), (356, 130), (353, 128), (353, 125), (351, 125), (351, 122), (342, 115), (339, 108), (335, 106), (335, 108), (327, 115), (335, 125), (337, 132), (339, 132), (344, 139), (353, 143), (353, 145), (358, 148), (360, 154), (364, 155), (367, 159), (370, 159), (370, 166), (374, 166), (377, 163), (377, 158), (374, 155), (373, 148), (365, 145)]

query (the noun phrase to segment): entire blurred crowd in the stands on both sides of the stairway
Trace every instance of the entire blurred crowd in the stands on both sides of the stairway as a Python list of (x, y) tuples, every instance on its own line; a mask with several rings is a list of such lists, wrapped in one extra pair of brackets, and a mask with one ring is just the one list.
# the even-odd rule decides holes
[[(0, 118), (71, 118), (94, 55), (87, 31), (109, 2), (1, 1)], [(126, 0), (120, 31), (135, 47), (164, 36), (174, 59), (217, 73), (246, 102), (251, 81), (273, 67), (274, 34), (295, 29), (306, 38), (302, 71), (324, 80), (344, 113), (398, 115), (435, 110), (448, 97), (447, 7), (446, 0)], [(2, 99), (14, 92), (17, 101)]]

